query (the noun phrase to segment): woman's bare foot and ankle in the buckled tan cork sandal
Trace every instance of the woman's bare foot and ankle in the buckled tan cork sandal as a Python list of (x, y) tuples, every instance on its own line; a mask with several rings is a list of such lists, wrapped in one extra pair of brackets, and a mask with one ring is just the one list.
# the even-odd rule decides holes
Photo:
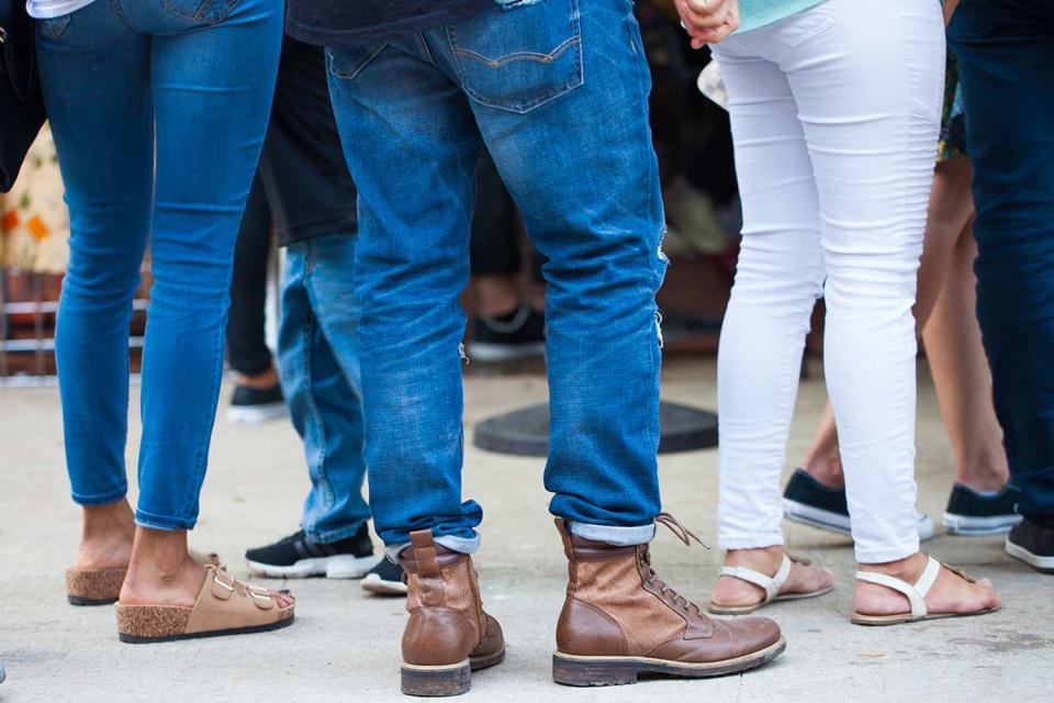
[[(186, 531), (137, 527), (128, 573), (121, 587), (123, 605), (193, 607), (206, 569), (191, 558)], [(293, 603), (287, 593), (271, 593), (279, 607)]]

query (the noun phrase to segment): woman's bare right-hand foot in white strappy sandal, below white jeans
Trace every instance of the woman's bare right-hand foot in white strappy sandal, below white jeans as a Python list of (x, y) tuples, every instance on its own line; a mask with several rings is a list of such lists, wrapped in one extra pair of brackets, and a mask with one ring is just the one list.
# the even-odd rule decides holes
[[(899, 561), (862, 563), (860, 570), (886, 573), (901, 581), (915, 583), (922, 576), (927, 560), (928, 557), (920, 551)], [(931, 614), (976, 613), (996, 609), (999, 603), (999, 593), (988, 579), (971, 583), (944, 567), (941, 567), (937, 581), (926, 595), (926, 606)], [(861, 615), (899, 615), (911, 612), (911, 604), (901, 593), (864, 581), (856, 581), (853, 604)]]

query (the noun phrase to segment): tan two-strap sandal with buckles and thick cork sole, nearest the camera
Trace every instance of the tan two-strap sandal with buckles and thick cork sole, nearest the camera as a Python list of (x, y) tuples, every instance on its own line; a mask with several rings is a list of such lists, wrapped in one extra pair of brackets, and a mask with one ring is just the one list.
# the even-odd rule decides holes
[(293, 624), (295, 605), (280, 607), (276, 595), (208, 566), (193, 607), (117, 603), (117, 636), (145, 644), (280, 629)]

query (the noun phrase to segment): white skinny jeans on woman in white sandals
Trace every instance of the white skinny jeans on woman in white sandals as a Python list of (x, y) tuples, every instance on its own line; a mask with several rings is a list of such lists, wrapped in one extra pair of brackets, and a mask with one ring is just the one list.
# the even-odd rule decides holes
[(809, 317), (856, 559), (919, 549), (915, 303), (944, 86), (940, 0), (828, 0), (714, 47), (743, 241), (718, 355), (719, 542), (783, 544), (780, 476)]

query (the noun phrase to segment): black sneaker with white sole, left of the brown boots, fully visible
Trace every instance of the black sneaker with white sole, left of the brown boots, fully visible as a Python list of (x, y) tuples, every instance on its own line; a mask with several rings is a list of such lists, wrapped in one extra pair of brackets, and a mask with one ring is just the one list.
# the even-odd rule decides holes
[(354, 537), (332, 544), (315, 542), (301, 529), (273, 545), (247, 550), (245, 560), (254, 573), (290, 579), (309, 576), (360, 579), (377, 566), (370, 531), (365, 523)]

